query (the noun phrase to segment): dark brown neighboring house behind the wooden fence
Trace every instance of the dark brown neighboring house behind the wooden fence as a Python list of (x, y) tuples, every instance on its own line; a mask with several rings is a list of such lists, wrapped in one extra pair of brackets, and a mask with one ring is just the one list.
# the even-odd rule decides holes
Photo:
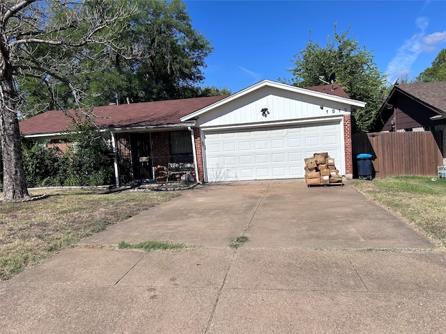
[(446, 81), (394, 85), (376, 118), (375, 132), (443, 132), (446, 158)]

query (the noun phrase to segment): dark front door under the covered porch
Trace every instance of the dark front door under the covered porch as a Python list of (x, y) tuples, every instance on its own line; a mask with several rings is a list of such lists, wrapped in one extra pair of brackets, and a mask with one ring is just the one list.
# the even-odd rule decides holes
[(150, 133), (132, 134), (130, 141), (132, 143), (133, 180), (144, 182), (144, 180), (153, 179)]

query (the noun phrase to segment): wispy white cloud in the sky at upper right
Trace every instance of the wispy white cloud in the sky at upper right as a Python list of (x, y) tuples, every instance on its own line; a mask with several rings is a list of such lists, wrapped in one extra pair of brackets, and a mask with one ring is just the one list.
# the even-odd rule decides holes
[(425, 31), (429, 26), (429, 19), (417, 17), (415, 25), (420, 29), (409, 40), (399, 47), (397, 55), (387, 65), (386, 74), (390, 81), (401, 75), (408, 75), (413, 63), (422, 52), (435, 51), (437, 45), (446, 42), (446, 31), (431, 33), (426, 35)]

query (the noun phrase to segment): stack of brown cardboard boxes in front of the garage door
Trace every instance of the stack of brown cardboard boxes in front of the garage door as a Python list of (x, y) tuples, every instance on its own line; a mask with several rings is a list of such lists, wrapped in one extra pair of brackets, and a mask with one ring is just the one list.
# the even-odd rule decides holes
[(342, 175), (328, 152), (314, 153), (313, 157), (305, 158), (305, 181), (308, 186), (342, 184)]

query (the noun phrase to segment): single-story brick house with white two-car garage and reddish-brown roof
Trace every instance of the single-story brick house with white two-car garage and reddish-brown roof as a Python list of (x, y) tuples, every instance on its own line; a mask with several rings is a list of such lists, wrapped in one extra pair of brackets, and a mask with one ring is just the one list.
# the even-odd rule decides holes
[[(263, 80), (229, 96), (100, 106), (93, 113), (117, 152), (116, 183), (164, 180), (160, 169), (178, 176), (182, 168), (216, 182), (304, 177), (304, 159), (315, 152), (329, 152), (340, 173), (351, 175), (351, 111), (364, 106), (337, 85), (304, 89)], [(63, 145), (68, 124), (62, 111), (48, 111), (20, 122), (20, 130)]]

